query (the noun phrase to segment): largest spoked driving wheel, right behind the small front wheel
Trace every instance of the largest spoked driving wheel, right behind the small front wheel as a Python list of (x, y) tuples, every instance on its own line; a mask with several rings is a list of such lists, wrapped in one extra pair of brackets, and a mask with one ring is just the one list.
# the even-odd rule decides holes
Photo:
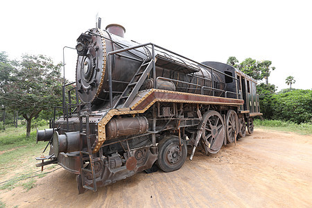
[(209, 110), (202, 116), (204, 121), (202, 130), (202, 141), (206, 153), (218, 153), (223, 145), (225, 137), (225, 129), (222, 116), (214, 111)]

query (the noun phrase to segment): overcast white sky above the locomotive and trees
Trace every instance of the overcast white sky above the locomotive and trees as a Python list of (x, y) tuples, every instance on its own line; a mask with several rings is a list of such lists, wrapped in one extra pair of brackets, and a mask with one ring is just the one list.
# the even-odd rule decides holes
[[(107, 24), (125, 27), (125, 38), (153, 42), (198, 62), (235, 56), (271, 60), (268, 78), (278, 90), (312, 89), (312, 1), (1, 1), (0, 51), (11, 59), (47, 55), (62, 62), (64, 46), (80, 33)], [(76, 51), (64, 49), (65, 77), (75, 80)]]

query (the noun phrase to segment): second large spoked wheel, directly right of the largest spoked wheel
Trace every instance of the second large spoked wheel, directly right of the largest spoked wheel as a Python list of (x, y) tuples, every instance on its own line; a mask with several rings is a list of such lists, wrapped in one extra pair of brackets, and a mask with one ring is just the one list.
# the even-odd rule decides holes
[(234, 110), (229, 110), (227, 112), (226, 122), (226, 133), (227, 141), (233, 143), (235, 141), (236, 135), (239, 132), (239, 117)]

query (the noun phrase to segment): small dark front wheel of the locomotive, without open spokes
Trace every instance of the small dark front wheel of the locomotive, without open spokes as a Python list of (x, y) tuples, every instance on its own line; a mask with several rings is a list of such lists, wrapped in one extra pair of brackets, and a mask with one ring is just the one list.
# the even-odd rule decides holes
[(159, 141), (157, 164), (164, 172), (176, 171), (182, 167), (187, 159), (187, 144), (181, 139), (181, 150), (179, 137), (168, 136)]

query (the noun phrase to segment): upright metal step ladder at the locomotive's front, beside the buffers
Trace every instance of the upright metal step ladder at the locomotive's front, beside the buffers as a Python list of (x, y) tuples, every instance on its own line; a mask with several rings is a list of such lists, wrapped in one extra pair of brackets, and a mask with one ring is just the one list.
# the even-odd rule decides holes
[[(83, 126), (83, 118), (85, 117), (85, 126)], [(92, 155), (92, 148), (90, 143), (90, 138), (92, 135), (89, 134), (89, 114), (80, 115), (79, 113), (79, 121), (80, 121), (80, 167), (81, 167), (81, 179), (83, 188), (89, 189), (92, 191), (97, 191), (96, 187), (96, 175), (94, 170), (94, 157)], [(85, 130), (85, 133), (83, 133), (83, 130)], [(85, 135), (87, 139), (87, 151), (83, 151), (83, 139), (81, 136)], [(85, 155), (87, 157), (85, 157)], [(84, 168), (83, 164), (85, 161), (89, 160), (89, 165), (91, 167), (91, 170), (89, 168)], [(91, 173), (92, 175), (92, 186), (88, 186), (85, 184), (85, 173)]]

